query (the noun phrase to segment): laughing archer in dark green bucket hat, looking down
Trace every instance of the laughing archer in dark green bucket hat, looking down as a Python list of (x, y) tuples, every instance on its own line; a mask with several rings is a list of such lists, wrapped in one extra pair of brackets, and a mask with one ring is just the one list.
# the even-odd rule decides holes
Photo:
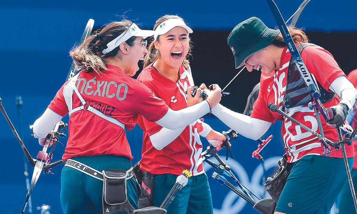
[[(301, 29), (290, 27), (290, 34), (301, 51), (308, 71), (320, 86), (322, 105), (334, 111), (329, 124), (322, 120), (325, 137), (338, 141), (336, 128), (356, 101), (356, 90), (325, 49), (307, 44)], [(259, 139), (276, 120), (282, 121), (281, 134), (291, 167), (275, 213), (329, 213), (347, 180), (341, 150), (323, 156), (323, 145), (317, 137), (297, 124), (267, 108), (274, 103), (287, 114), (313, 131), (320, 132), (305, 82), (287, 50), (279, 30), (268, 28), (260, 19), (252, 17), (238, 24), (228, 37), (228, 45), (235, 57), (236, 68), (261, 71), (260, 91), (250, 116), (233, 112), (222, 105), (212, 109), (221, 121), (243, 136)], [(353, 145), (346, 146), (348, 162), (353, 163)]]

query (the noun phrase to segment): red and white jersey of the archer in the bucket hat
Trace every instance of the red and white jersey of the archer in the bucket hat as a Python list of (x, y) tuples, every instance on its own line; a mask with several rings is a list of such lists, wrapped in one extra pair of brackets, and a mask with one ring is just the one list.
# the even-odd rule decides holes
[[(308, 55), (310, 55), (313, 61), (306, 52), (308, 52)], [(328, 87), (330, 86), (330, 83), (333, 82), (333, 80), (339, 76), (345, 75), (341, 68), (337, 65), (337, 62), (333, 56), (321, 47), (307, 46), (305, 49), (303, 49), (301, 57), (305, 62), (308, 71), (315, 75), (316, 80), (326, 90), (328, 90)], [(290, 119), (283, 118), (280, 114), (271, 112), (270, 109), (267, 108), (269, 103), (274, 103), (280, 109), (282, 109), (283, 96), (285, 95), (286, 91), (286, 76), (290, 59), (291, 54), (285, 47), (281, 56), (281, 68), (278, 69), (277, 72), (273, 72), (273, 75), (271, 76), (267, 76), (262, 73), (260, 80), (260, 91), (257, 101), (253, 106), (251, 117), (272, 123), (275, 120), (283, 122), (281, 133), (284, 146), (287, 151), (288, 162), (292, 163), (306, 155), (316, 154), (321, 156), (323, 152), (323, 145), (315, 135), (307, 132), (305, 129), (301, 128)], [(324, 76), (316, 66), (320, 68)], [(338, 103), (339, 98), (335, 96), (335, 98), (333, 98), (331, 101), (323, 103), (323, 106), (328, 108), (335, 106)], [(314, 111), (310, 110), (308, 105), (289, 108), (287, 114), (305, 124), (313, 131), (320, 133), (317, 125), (317, 119), (314, 116)], [(325, 137), (332, 141), (337, 141), (338, 136), (336, 128), (328, 126), (322, 116), (321, 121)], [(354, 157), (353, 145), (346, 145), (346, 152), (347, 157)], [(341, 149), (337, 152), (332, 152), (330, 157), (342, 158)]]

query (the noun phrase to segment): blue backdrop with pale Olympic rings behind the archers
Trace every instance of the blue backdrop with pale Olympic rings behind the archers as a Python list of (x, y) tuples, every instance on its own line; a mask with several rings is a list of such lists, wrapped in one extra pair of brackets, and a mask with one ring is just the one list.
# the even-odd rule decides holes
[[(288, 19), (301, 1), (276, 0), (276, 3), (282, 15)], [(357, 31), (356, 7), (357, 1), (312, 0), (304, 10), (298, 26), (304, 26), (309, 31)], [(72, 62), (68, 52), (75, 41), (80, 39), (87, 20), (95, 19), (95, 28), (99, 28), (107, 22), (120, 20), (123, 14), (146, 29), (152, 28), (155, 20), (165, 14), (182, 16), (194, 30), (231, 30), (238, 22), (251, 16), (261, 18), (269, 27), (276, 25), (264, 0), (156, 1), (155, 4), (149, 1), (105, 1), (104, 4), (94, 0), (64, 0), (50, 3), (44, 0), (2, 2), (0, 97), (32, 156), (35, 157), (41, 147), (36, 139), (30, 136), (28, 125), (41, 115), (65, 81)], [(230, 61), (233, 67), (232, 58)], [(252, 88), (252, 85), (240, 87)], [(19, 95), (24, 102), (21, 107), (21, 126), (15, 100)], [(234, 104), (245, 105), (242, 102)], [(64, 121), (68, 122), (68, 117), (65, 117)], [(217, 131), (229, 129), (214, 116), (206, 116), (205, 121)], [(262, 153), (269, 172), (272, 172), (278, 158), (284, 153), (280, 128), (281, 123), (276, 123), (264, 136), (274, 135), (272, 142)], [(134, 164), (140, 159), (142, 131), (136, 127), (133, 131), (127, 132), (127, 136), (135, 157)], [(0, 177), (0, 212), (18, 213), (26, 194), (24, 157), (19, 143), (2, 116), (0, 142), (3, 162)], [(205, 139), (202, 139), (202, 142), (204, 147), (207, 146)], [(251, 158), (251, 152), (256, 149), (257, 143), (240, 137), (232, 144), (235, 159), (230, 159), (227, 163), (243, 184), (260, 196), (264, 195), (260, 161)], [(60, 159), (63, 153), (64, 147), (58, 146), (54, 159)], [(52, 214), (62, 213), (59, 202), (62, 166), (52, 170), (54, 175), (41, 175), (32, 195), (33, 213), (40, 213), (36, 207), (42, 204), (51, 205)], [(255, 213), (250, 205), (211, 179), (213, 170), (208, 165), (204, 167), (210, 177), (215, 214)], [(31, 177), (32, 168), (29, 169), (29, 173)]]

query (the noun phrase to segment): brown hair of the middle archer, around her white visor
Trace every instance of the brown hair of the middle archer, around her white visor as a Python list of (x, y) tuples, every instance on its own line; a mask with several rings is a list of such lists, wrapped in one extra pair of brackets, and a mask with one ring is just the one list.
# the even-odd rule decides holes
[[(156, 20), (155, 25), (154, 25), (154, 30), (156, 30), (156, 28), (164, 21), (169, 20), (169, 19), (181, 19), (183, 21), (183, 19), (180, 16), (176, 16), (176, 15), (165, 15), (160, 17), (158, 20)], [(159, 41), (159, 37), (157, 37), (157, 41)], [(190, 61), (188, 61), (188, 57), (191, 56), (191, 49), (192, 49), (192, 44), (190, 41), (190, 37), (188, 37), (188, 41), (190, 42), (190, 46), (188, 47), (188, 54), (186, 55), (186, 58), (183, 60), (182, 65), (183, 67), (185, 67), (186, 69), (189, 68), (190, 65)], [(149, 45), (149, 49), (148, 49), (148, 53), (145, 56), (144, 59), (144, 68), (148, 65), (150, 65), (152, 62), (154, 62), (155, 60), (157, 60), (160, 57), (160, 52), (159, 50), (156, 50), (155, 45), (154, 45), (154, 41), (152, 41)]]

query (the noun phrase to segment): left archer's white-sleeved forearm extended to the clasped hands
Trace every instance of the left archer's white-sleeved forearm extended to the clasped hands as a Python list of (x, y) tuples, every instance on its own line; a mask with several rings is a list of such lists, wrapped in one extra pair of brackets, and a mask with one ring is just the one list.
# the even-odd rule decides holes
[(202, 101), (196, 105), (183, 108), (178, 111), (174, 111), (169, 108), (164, 117), (156, 121), (156, 123), (168, 129), (178, 129), (195, 122), (198, 118), (207, 114), (209, 111), (210, 107), (206, 101)]

